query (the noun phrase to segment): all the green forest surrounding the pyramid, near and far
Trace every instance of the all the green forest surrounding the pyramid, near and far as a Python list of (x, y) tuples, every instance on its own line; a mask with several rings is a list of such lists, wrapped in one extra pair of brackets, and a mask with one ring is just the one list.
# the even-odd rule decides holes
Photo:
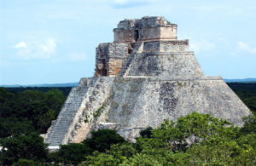
[(49, 152), (46, 133), (71, 88), (0, 88), (0, 165), (255, 165), (256, 83), (228, 83), (253, 114), (239, 128), (192, 113), (127, 142), (102, 129), (80, 144)]

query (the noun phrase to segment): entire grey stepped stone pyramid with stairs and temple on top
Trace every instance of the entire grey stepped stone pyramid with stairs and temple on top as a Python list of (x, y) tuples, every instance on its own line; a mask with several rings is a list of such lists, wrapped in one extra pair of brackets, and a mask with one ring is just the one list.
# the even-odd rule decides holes
[(96, 74), (81, 78), (45, 135), (49, 146), (81, 142), (94, 129), (116, 129), (134, 141), (141, 129), (191, 112), (236, 125), (250, 114), (222, 77), (205, 76), (164, 17), (121, 20), (113, 43), (96, 48)]

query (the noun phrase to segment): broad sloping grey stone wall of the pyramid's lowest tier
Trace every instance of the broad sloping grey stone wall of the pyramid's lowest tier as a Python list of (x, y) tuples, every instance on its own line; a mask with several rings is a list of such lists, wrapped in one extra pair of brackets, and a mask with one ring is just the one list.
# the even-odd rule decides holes
[(91, 129), (116, 129), (135, 141), (139, 131), (191, 112), (242, 125), (249, 110), (222, 77), (115, 77), (102, 115)]

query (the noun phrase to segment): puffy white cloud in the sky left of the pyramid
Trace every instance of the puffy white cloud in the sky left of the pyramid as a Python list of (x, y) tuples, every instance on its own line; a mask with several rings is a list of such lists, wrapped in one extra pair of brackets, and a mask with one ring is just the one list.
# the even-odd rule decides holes
[(49, 59), (55, 55), (55, 39), (47, 38), (43, 42), (26, 41), (15, 44), (17, 54), (21, 59)]

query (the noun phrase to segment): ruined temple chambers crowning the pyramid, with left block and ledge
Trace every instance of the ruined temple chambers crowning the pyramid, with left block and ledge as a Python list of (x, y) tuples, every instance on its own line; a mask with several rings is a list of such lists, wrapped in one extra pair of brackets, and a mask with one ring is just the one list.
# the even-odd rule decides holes
[[(142, 19), (121, 20), (113, 29), (113, 43), (101, 43), (96, 48), (96, 77), (120, 76), (125, 72), (127, 60), (135, 53), (136, 46), (149, 42), (148, 50), (188, 51), (188, 40), (177, 40), (177, 25), (164, 17), (143, 17)], [(157, 43), (151, 43), (157, 41)], [(153, 46), (153, 47), (152, 47)], [(165, 50), (164, 50), (165, 49)], [(128, 64), (130, 65), (130, 64)], [(124, 75), (124, 73), (122, 73)]]

